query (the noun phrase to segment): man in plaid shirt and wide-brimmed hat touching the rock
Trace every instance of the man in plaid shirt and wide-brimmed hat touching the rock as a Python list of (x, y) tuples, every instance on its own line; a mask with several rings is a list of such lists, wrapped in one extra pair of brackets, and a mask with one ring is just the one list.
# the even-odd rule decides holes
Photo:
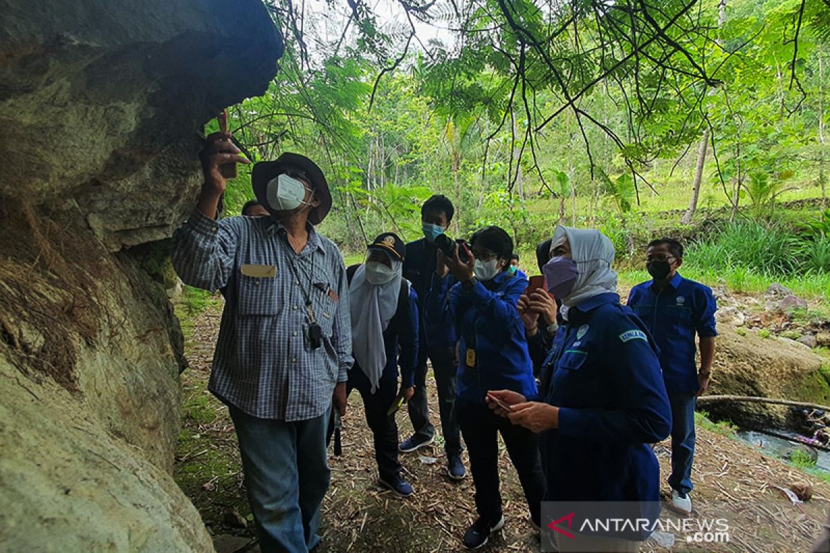
[(230, 138), (207, 138), (202, 192), (173, 235), (173, 266), (186, 284), (225, 296), (208, 389), (237, 430), (261, 550), (310, 551), (330, 480), (326, 424), (330, 409), (345, 412), (353, 362), (343, 257), (314, 227), (331, 194), (320, 167), (284, 153), (251, 173), (270, 217), (215, 221), (220, 166), (249, 163)]

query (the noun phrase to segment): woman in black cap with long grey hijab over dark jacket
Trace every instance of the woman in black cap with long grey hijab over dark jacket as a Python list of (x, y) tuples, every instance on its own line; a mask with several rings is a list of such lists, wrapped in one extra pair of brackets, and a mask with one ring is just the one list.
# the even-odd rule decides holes
[[(398, 496), (412, 495), (401, 477), (394, 412), (413, 395), (417, 365), (417, 296), (403, 279), (403, 241), (391, 232), (369, 245), (364, 264), (346, 269), (354, 366), (347, 394), (357, 389), (374, 436), (378, 483)], [(401, 387), (398, 391), (398, 365)]]

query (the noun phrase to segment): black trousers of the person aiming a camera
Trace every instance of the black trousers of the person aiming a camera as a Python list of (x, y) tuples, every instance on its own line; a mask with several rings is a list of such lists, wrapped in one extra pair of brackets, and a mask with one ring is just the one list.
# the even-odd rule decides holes
[(544, 494), (544, 473), (539, 453), (539, 436), (510, 420), (495, 415), (484, 404), (456, 401), (458, 422), (476, 485), (476, 511), (479, 517), (496, 523), (501, 517), (499, 492), (499, 438), (505, 441), (510, 461), (519, 475), (530, 517), (539, 523)]

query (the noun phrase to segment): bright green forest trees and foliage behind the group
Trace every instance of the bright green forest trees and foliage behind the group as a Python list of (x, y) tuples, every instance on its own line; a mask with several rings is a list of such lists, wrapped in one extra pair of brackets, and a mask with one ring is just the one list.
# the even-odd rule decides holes
[(315, 158), (349, 247), (417, 235), (427, 190), (452, 233), (520, 240), (549, 214), (630, 224), (679, 192), (686, 221), (698, 198), (734, 218), (828, 182), (830, 0), (266, 2), (286, 56), (231, 130), (254, 161)]

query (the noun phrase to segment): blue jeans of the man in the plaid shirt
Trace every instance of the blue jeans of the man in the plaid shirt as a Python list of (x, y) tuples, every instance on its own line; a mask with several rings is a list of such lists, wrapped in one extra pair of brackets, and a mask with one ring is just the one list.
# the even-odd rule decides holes
[(331, 474), (325, 451), (329, 412), (286, 422), (229, 408), (262, 553), (310, 551), (320, 542), (320, 503)]

